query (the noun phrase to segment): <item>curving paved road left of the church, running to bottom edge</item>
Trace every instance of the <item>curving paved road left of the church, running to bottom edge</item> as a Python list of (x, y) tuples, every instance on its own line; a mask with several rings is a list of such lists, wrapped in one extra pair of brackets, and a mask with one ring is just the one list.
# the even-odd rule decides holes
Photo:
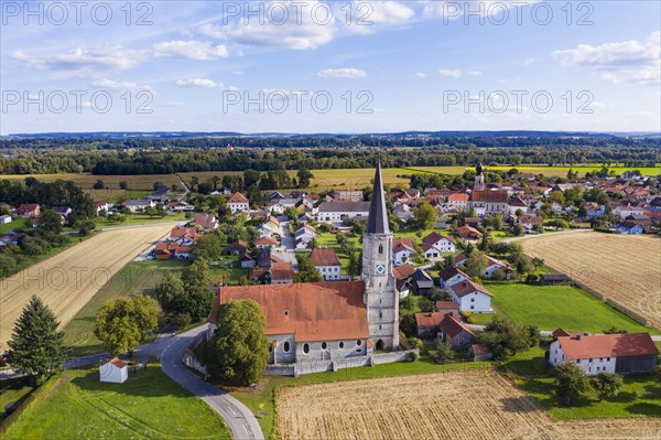
[(239, 400), (226, 391), (209, 385), (182, 363), (182, 354), (195, 337), (206, 331), (206, 325), (201, 325), (188, 330), (182, 334), (170, 337), (165, 347), (163, 347), (161, 357), (161, 368), (174, 382), (186, 388), (191, 393), (203, 399), (216, 412), (225, 419), (229, 426), (232, 437), (236, 440), (254, 439), (263, 440), (259, 422), (252, 412)]

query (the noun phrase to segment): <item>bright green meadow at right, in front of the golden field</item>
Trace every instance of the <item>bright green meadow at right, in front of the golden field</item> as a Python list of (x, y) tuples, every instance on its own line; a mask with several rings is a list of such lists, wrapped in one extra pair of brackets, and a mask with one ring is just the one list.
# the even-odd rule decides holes
[(494, 294), (497, 312), (541, 330), (563, 328), (570, 332), (602, 333), (613, 325), (629, 332), (659, 331), (646, 328), (582, 289), (570, 286), (529, 286), (513, 281), (485, 282)]

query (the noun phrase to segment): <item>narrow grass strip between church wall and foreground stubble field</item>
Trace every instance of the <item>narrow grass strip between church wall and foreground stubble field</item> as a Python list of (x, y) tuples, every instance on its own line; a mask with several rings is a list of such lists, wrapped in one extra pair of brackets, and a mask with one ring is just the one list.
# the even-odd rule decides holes
[(230, 394), (234, 397), (242, 401), (248, 408), (250, 408), (250, 410), (254, 415), (257, 415), (258, 421), (262, 428), (262, 431), (264, 432), (264, 438), (272, 439), (278, 437), (277, 432), (273, 432), (273, 428), (274, 412), (277, 410), (274, 393), (275, 389), (279, 387), (323, 384), (343, 380), (359, 380), (377, 377), (432, 374), (443, 373), (447, 371), (476, 368), (491, 368), (491, 364), (488, 362), (470, 362), (460, 364), (438, 365), (426, 357), (421, 357), (414, 363), (398, 362), (392, 364), (376, 365), (371, 367), (347, 368), (339, 369), (335, 373), (328, 372), (306, 374), (297, 378), (283, 376), (262, 376), (256, 390), (251, 390), (249, 388), (231, 387), (224, 387), (224, 389), (230, 391)]

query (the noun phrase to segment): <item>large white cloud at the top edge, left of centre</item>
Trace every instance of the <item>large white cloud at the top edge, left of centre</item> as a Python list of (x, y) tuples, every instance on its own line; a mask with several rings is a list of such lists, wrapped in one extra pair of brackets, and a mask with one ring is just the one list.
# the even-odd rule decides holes
[[(268, 13), (271, 3), (286, 8), (286, 18)], [(198, 28), (203, 35), (228, 42), (261, 47), (286, 47), (299, 51), (316, 49), (333, 41), (337, 31), (335, 15), (327, 3), (307, 0), (267, 3), (263, 15), (240, 18), (232, 23), (206, 23)], [(247, 8), (246, 8), (247, 9)], [(328, 11), (328, 19), (324, 10)], [(282, 15), (282, 17), (281, 17)], [(313, 17), (316, 17), (313, 20)]]

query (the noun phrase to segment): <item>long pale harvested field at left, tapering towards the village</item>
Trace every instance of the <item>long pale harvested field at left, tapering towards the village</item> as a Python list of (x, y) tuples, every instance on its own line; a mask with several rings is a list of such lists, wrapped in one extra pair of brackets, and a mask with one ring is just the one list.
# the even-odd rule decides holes
[(119, 269), (171, 228), (162, 224), (104, 232), (0, 280), (0, 344), (6, 346), (32, 294), (41, 297), (64, 326)]

